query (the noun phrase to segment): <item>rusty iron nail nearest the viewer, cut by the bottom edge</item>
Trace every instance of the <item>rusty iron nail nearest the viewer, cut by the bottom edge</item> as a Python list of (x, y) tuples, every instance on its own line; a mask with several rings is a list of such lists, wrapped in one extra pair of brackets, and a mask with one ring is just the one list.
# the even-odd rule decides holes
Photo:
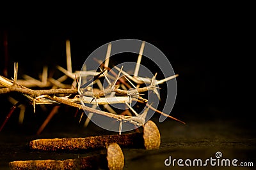
[(116, 143), (107, 146), (106, 154), (66, 160), (19, 160), (10, 169), (123, 169), (124, 154)]

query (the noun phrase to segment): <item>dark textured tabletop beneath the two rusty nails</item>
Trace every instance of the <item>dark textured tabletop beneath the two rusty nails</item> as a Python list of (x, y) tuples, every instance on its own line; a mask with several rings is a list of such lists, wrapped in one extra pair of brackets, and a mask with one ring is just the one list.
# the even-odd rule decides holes
[[(222, 122), (220, 120), (201, 122), (188, 120), (186, 125), (166, 120), (158, 122), (157, 117), (152, 120), (156, 122), (161, 133), (161, 146), (159, 150), (143, 150), (123, 148), (125, 157), (124, 169), (200, 169), (204, 167), (179, 167), (177, 162), (174, 167), (164, 165), (164, 160), (169, 159), (216, 159), (216, 152), (222, 153), (222, 159), (237, 159), (240, 162), (253, 162), (255, 169), (256, 139), (255, 131), (250, 124), (241, 122)], [(52, 120), (56, 121), (56, 120)], [(63, 122), (65, 123), (65, 122)], [(67, 122), (66, 122), (67, 123)], [(9, 169), (8, 162), (14, 160), (42, 160), (42, 159), (73, 159), (88, 153), (58, 153), (58, 152), (33, 152), (28, 148), (28, 142), (39, 138), (64, 138), (83, 137), (97, 134), (108, 134), (96, 125), (90, 124), (86, 129), (78, 127), (76, 123), (64, 125), (49, 125), (39, 136), (24, 129), (13, 129), (0, 134), (0, 169)], [(221, 160), (220, 158), (220, 160)], [(167, 162), (168, 163), (168, 162)], [(184, 164), (184, 162), (183, 162)], [(204, 163), (203, 163), (204, 164)], [(230, 163), (231, 164), (231, 163)], [(232, 166), (232, 165), (230, 165)], [(236, 169), (253, 169), (253, 167), (236, 167)], [(227, 166), (211, 166), (207, 169), (233, 169)]]

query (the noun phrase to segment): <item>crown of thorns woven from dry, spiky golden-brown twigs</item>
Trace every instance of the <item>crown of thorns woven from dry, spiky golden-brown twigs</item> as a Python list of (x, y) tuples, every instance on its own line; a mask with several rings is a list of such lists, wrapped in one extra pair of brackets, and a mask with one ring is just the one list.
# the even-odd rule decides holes
[[(145, 117), (147, 116), (148, 109), (154, 110), (157, 113), (160, 113), (161, 115), (164, 115), (164, 117), (172, 118), (173, 120), (176, 120), (182, 124), (185, 124), (181, 120), (174, 118), (170, 115), (167, 115), (166, 113), (163, 113), (162, 111), (157, 110), (156, 108), (153, 108), (151, 105), (148, 104), (147, 99), (143, 99), (141, 97), (141, 92), (147, 92), (147, 91), (153, 91), (154, 94), (157, 95), (159, 100), (161, 100), (157, 85), (164, 83), (166, 81), (172, 80), (179, 76), (179, 74), (175, 74), (172, 76), (169, 76), (167, 78), (164, 78), (163, 80), (157, 80), (156, 74), (152, 76), (152, 78), (147, 78), (143, 76), (138, 76), (138, 73), (140, 71), (140, 64), (141, 59), (143, 56), (143, 50), (145, 48), (145, 41), (142, 41), (140, 52), (138, 55), (138, 60), (136, 62), (136, 67), (134, 68), (134, 75), (131, 76), (128, 73), (126, 73), (123, 70), (123, 66), (121, 68), (114, 67), (116, 70), (118, 70), (118, 73), (116, 74), (115, 71), (113, 71), (111, 68), (109, 68), (109, 58), (111, 55), (111, 43), (108, 44), (107, 52), (106, 52), (106, 59), (104, 60), (104, 64), (102, 61), (95, 59), (97, 62), (99, 62), (100, 67), (103, 67), (102, 70), (100, 67), (101, 72), (97, 72), (96, 70), (86, 70), (86, 66), (83, 67), (82, 71), (72, 71), (72, 60), (71, 60), (71, 52), (70, 52), (70, 41), (66, 41), (66, 55), (67, 55), (67, 69), (57, 66), (57, 69), (59, 69), (64, 75), (61, 76), (58, 79), (54, 79), (52, 77), (48, 77), (48, 70), (47, 66), (43, 67), (42, 71), (42, 77), (40, 77), (40, 80), (36, 80), (36, 78), (32, 78), (31, 76), (28, 76), (26, 74), (23, 75), (24, 80), (17, 80), (17, 72), (18, 72), (18, 63), (14, 63), (14, 76), (13, 80), (9, 80), (8, 78), (4, 78), (3, 76), (0, 76), (0, 85), (3, 85), (4, 88), (0, 89), (0, 94), (6, 94), (10, 92), (19, 92), (23, 94), (25, 97), (28, 98), (30, 104), (33, 106), (34, 112), (36, 104), (65, 104), (67, 106), (72, 106), (75, 108), (78, 108), (79, 110), (83, 108), (86, 113), (88, 112), (88, 116), (84, 122), (84, 127), (88, 126), (90, 119), (94, 114), (102, 115), (104, 117), (114, 118), (118, 122), (120, 122), (119, 127), (119, 133), (122, 132), (122, 122), (129, 122), (135, 126), (140, 127), (145, 123)], [(106, 74), (106, 73), (111, 74)], [(122, 74), (122, 76), (121, 76)], [(76, 77), (79, 76), (79, 80), (76, 79)], [(83, 76), (83, 77), (82, 77)], [(121, 77), (120, 77), (121, 76)], [(67, 78), (71, 78), (73, 80), (72, 85), (65, 85), (62, 82), (67, 80)], [(81, 85), (81, 81), (83, 78), (83, 85)], [(87, 81), (87, 78), (92, 78), (91, 80)], [(103, 85), (101, 83), (101, 79), (104, 78), (106, 81), (108, 81), (109, 87), (107, 89), (103, 89)], [(119, 81), (119, 83), (117, 83)], [(134, 81), (134, 83), (132, 83)], [(28, 87), (24, 87), (22, 85), (19, 85), (18, 82), (22, 82), (29, 87), (52, 87), (52, 89), (45, 89), (45, 90), (32, 90)], [(112, 83), (111, 83), (112, 82)], [(130, 84), (130, 85), (129, 85)], [(147, 87), (141, 87), (140, 85), (148, 84)], [(93, 85), (93, 88), (90, 87)], [(98, 87), (94, 87), (98, 86)], [(131, 89), (131, 86), (134, 89)], [(90, 89), (89, 89), (90, 87)], [(119, 89), (122, 87), (122, 89)], [(58, 89), (60, 88), (60, 89)], [(129, 90), (127, 90), (129, 89)], [(115, 96), (115, 95), (118, 96)], [(62, 97), (61, 97), (62, 96)], [(71, 96), (71, 97), (70, 97)], [(83, 101), (83, 102), (81, 102)], [(136, 111), (131, 107), (132, 101), (138, 101), (140, 103), (146, 103), (147, 108), (143, 111), (142, 114), (138, 115)], [(110, 104), (124, 104), (128, 106), (132, 113), (134, 113), (135, 117), (132, 116), (124, 116), (124, 115), (117, 115), (116, 111), (111, 108)], [(20, 106), (20, 103), (16, 103), (13, 108), (8, 113), (6, 120), (4, 120), (4, 123), (1, 125), (1, 129), (3, 129), (4, 124), (6, 124), (7, 120), (10, 118), (10, 116), (13, 113), (13, 110), (18, 106)], [(92, 107), (85, 106), (85, 104), (93, 104)], [(103, 105), (106, 111), (97, 110), (97, 106)], [(58, 111), (58, 108), (60, 105), (54, 106), (51, 113), (49, 113), (48, 117), (45, 119), (45, 122), (41, 125), (40, 129), (38, 129), (37, 134), (40, 134), (44, 127), (48, 124), (48, 122), (51, 120), (53, 115)], [(23, 115), (22, 115), (23, 114)], [(81, 122), (83, 118), (84, 112), (81, 114), (81, 117), (79, 119), (79, 122)], [(19, 122), (22, 122), (24, 118), (24, 107), (20, 106), (20, 118)], [(0, 131), (1, 131), (0, 129)]]

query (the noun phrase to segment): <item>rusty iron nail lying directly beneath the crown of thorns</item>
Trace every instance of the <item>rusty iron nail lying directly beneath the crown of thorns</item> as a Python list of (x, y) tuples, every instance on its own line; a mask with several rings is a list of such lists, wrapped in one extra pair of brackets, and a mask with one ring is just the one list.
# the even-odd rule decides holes
[(106, 143), (117, 143), (127, 148), (145, 148), (146, 150), (153, 150), (159, 148), (160, 142), (160, 133), (157, 125), (154, 124), (152, 120), (148, 120), (148, 122), (143, 125), (143, 132), (90, 136), (86, 138), (36, 139), (30, 141), (29, 147), (31, 150), (70, 152), (104, 148)]

